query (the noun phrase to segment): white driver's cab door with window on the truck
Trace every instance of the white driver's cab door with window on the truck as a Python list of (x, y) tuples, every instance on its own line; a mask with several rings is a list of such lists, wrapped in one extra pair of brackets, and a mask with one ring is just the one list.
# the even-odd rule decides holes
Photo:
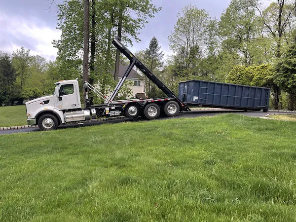
[(64, 84), (60, 86), (58, 106), (61, 110), (71, 110), (79, 108), (77, 101), (77, 92), (75, 92), (74, 84)]

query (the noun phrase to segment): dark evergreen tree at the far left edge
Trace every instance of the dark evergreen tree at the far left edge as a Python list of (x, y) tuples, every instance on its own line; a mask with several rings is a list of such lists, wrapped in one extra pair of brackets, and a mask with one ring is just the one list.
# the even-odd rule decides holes
[(15, 90), (16, 72), (7, 53), (0, 52), (0, 106), (12, 105)]

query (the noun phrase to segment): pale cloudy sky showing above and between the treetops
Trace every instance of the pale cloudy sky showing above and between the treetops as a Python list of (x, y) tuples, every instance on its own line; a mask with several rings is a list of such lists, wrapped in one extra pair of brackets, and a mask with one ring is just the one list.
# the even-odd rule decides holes
[[(57, 49), (53, 39), (60, 38), (56, 29), (58, 7), (64, 0), (0, 0), (0, 51), (16, 51), (21, 46), (30, 49), (31, 55), (40, 55), (47, 60), (55, 60)], [(128, 47), (132, 52), (144, 50), (150, 39), (155, 36), (166, 54), (169, 49), (168, 36), (174, 31), (177, 14), (190, 4), (205, 9), (211, 17), (220, 18), (230, 0), (152, 0), (162, 9), (150, 18), (148, 24), (140, 31), (141, 42), (134, 42)]]

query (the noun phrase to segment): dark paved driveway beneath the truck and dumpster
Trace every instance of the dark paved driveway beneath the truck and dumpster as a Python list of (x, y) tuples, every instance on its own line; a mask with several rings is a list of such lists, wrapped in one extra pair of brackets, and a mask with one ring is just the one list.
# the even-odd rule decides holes
[[(276, 112), (262, 112), (262, 111), (233, 111), (233, 110), (197, 110), (197, 111), (188, 111), (183, 112), (178, 115), (177, 118), (194, 118), (200, 116), (215, 116), (224, 113), (235, 113), (235, 114), (242, 114), (247, 116), (256, 116), (256, 117), (263, 117), (269, 113), (276, 113)], [(159, 119), (167, 119), (168, 117), (160, 117)], [(176, 118), (176, 117), (174, 117)], [(91, 123), (83, 123), (83, 124), (74, 124), (74, 125), (62, 125), (58, 129), (65, 129), (65, 128), (73, 128), (73, 127), (85, 127), (90, 125), (100, 125), (106, 123), (118, 123), (123, 121), (143, 121), (145, 119), (139, 117), (135, 120), (130, 120), (128, 118), (123, 119), (116, 119), (116, 120), (109, 120), (109, 121), (102, 121), (102, 122), (91, 122)], [(38, 127), (36, 128), (25, 128), (25, 129), (13, 129), (13, 130), (1, 130), (0, 135), (3, 134), (13, 134), (13, 133), (28, 133), (28, 132), (35, 132), (40, 131)]]

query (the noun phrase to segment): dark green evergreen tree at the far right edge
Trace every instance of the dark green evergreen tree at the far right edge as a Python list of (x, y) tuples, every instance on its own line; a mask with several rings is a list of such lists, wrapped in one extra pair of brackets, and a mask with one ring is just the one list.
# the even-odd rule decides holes
[(287, 52), (276, 65), (275, 82), (289, 94), (289, 107), (296, 109), (296, 31)]

